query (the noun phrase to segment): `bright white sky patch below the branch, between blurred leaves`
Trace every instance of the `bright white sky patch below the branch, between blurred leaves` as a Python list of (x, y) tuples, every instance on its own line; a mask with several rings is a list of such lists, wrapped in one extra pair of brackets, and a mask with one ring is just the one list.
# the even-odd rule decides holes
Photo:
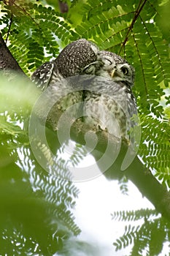
[[(74, 215), (81, 228), (80, 241), (97, 245), (101, 255), (127, 255), (131, 248), (115, 252), (113, 242), (123, 236), (125, 222), (112, 220), (111, 213), (120, 210), (154, 208), (131, 182), (128, 183), (128, 196), (122, 195), (117, 181), (107, 181), (99, 176), (91, 181), (76, 183), (80, 189)], [(142, 221), (140, 221), (141, 223)], [(139, 222), (136, 222), (139, 225)], [(77, 256), (77, 255), (75, 255)], [(98, 255), (95, 255), (98, 256)]]

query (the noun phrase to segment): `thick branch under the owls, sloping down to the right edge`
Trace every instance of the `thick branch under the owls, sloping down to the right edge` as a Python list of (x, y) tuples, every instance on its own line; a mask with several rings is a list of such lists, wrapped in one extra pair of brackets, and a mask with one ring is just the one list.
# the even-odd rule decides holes
[[(53, 130), (56, 130), (58, 116), (60, 114), (56, 113), (56, 109), (50, 113), (48, 124), (53, 127)], [(67, 116), (66, 125), (70, 124), (69, 116)], [(85, 134), (88, 131), (93, 131), (93, 128), (87, 124), (84, 124), (82, 121), (78, 120), (74, 122), (71, 129), (71, 138), (72, 140), (85, 145)], [(96, 132), (98, 137), (98, 143), (96, 145), (96, 149), (93, 151), (93, 157), (95, 157), (96, 161), (101, 158), (103, 154), (105, 154), (108, 136), (107, 132)], [(93, 137), (92, 137), (93, 138)], [(109, 136), (109, 143), (115, 144), (115, 148), (117, 146), (117, 138), (114, 136)], [(93, 143), (92, 143), (93, 144)], [(109, 167), (107, 171), (103, 174), (109, 179), (117, 179), (122, 176), (126, 176), (129, 178), (135, 185), (138, 187), (139, 191), (143, 196), (147, 197), (148, 200), (155, 206), (155, 209), (159, 211), (163, 216), (167, 219), (170, 219), (170, 194), (166, 190), (166, 187), (163, 187), (162, 184), (158, 182), (155, 176), (152, 175), (149, 169), (144, 167), (143, 163), (136, 156), (134, 161), (131, 162), (126, 170), (121, 170), (121, 165), (123, 163), (123, 159), (125, 159), (125, 154), (128, 150), (128, 146), (126, 143), (122, 143), (120, 148), (120, 153), (118, 154), (117, 159), (113, 162), (112, 166)], [(114, 157), (116, 152), (109, 152), (108, 157)], [(102, 171), (104, 166), (98, 166)]]

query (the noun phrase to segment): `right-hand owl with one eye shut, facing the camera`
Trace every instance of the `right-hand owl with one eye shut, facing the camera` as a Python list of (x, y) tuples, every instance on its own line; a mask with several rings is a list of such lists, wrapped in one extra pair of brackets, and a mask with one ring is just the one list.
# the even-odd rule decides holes
[(98, 51), (97, 60), (96, 76), (85, 85), (85, 122), (129, 141), (128, 133), (135, 125), (131, 118), (137, 114), (131, 91), (134, 67), (117, 54), (104, 50)]

